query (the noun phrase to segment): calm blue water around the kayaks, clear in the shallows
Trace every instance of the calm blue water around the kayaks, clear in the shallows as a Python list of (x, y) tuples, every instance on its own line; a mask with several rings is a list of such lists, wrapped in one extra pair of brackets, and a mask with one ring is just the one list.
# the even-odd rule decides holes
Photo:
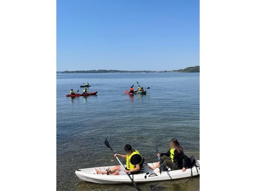
[[(146, 95), (124, 94), (138, 81)], [(86, 82), (96, 96), (66, 97)], [(169, 141), (178, 139), (188, 157), (199, 158), (199, 73), (57, 74), (57, 190), (135, 190), (132, 184), (95, 184), (76, 177), (76, 169), (119, 165), (116, 153), (129, 143), (157, 162)], [(122, 161), (122, 160), (121, 160)], [(125, 164), (125, 160), (122, 161)], [(141, 190), (199, 190), (199, 176), (141, 183)]]

